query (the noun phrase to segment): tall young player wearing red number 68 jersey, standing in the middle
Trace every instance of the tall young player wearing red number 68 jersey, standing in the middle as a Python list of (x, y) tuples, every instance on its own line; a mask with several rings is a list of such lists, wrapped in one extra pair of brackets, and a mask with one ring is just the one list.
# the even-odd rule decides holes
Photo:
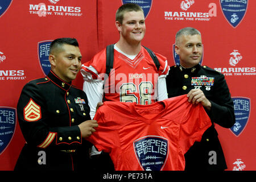
[(93, 118), (98, 102), (137, 102), (147, 105), (167, 98), (166, 57), (155, 53), (156, 68), (150, 54), (141, 45), (146, 25), (142, 8), (134, 3), (119, 7), (115, 14), (119, 40), (114, 44), (113, 69), (106, 75), (106, 48), (82, 65), (84, 91)]

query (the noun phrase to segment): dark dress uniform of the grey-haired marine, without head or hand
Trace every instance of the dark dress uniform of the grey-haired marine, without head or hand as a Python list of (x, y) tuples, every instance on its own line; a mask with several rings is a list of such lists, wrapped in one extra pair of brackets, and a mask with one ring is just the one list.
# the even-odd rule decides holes
[[(196, 142), (185, 154), (185, 170), (223, 170), (226, 169), (224, 152), (215, 123), (229, 128), (234, 125), (234, 106), (224, 75), (207, 66), (197, 64), (193, 68), (175, 65), (170, 68), (166, 78), (168, 97), (187, 94), (191, 89), (200, 88), (212, 104), (206, 110), (212, 126), (203, 134), (201, 142)], [(216, 164), (209, 164), (210, 151), (216, 152)]]

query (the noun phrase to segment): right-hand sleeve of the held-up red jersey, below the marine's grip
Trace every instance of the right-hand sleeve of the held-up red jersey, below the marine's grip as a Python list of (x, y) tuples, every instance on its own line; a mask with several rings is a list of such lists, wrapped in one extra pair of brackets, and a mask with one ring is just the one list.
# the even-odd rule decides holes
[[(189, 103), (189, 102), (188, 102)], [(184, 111), (180, 125), (180, 146), (184, 154), (195, 141), (200, 142), (201, 137), (212, 123), (201, 104), (190, 104)]]

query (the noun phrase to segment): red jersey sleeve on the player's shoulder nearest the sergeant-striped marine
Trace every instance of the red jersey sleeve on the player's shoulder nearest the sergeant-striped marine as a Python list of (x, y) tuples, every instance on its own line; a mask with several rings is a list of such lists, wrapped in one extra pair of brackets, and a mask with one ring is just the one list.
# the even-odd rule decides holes
[(104, 77), (106, 73), (106, 48), (94, 55), (92, 60), (82, 64), (81, 72), (91, 73), (93, 79)]

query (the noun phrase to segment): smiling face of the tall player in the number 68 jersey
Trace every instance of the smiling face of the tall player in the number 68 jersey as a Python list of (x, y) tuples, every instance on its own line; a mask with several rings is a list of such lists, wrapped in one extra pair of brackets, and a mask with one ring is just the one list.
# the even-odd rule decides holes
[(138, 44), (144, 38), (146, 26), (143, 11), (127, 11), (122, 23), (115, 22), (122, 40), (129, 44)]

